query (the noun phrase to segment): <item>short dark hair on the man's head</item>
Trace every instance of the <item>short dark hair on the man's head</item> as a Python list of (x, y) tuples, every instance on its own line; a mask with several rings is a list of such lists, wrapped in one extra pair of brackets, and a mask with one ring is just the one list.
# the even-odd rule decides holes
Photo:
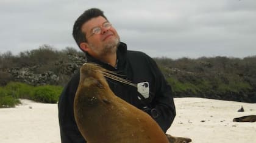
[(96, 18), (98, 16), (102, 16), (103, 18), (107, 19), (102, 12), (102, 10), (98, 8), (90, 8), (88, 10), (85, 10), (85, 12), (77, 18), (76, 22), (74, 22), (74, 27), (73, 27), (73, 37), (76, 41), (76, 44), (80, 48), (80, 43), (81, 42), (87, 42), (86, 33), (82, 32), (82, 25), (89, 21), (92, 18)]

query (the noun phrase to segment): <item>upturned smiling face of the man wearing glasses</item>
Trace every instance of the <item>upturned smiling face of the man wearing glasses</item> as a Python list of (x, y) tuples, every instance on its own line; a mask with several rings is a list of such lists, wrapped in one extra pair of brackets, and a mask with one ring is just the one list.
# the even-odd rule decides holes
[[(115, 28), (104, 27), (108, 22), (102, 16), (92, 18), (82, 25), (82, 32), (85, 33), (87, 42), (80, 44), (80, 47), (88, 52), (91, 56), (100, 58), (116, 52), (119, 44), (119, 36)], [(93, 33), (94, 28), (99, 27), (101, 32)]]

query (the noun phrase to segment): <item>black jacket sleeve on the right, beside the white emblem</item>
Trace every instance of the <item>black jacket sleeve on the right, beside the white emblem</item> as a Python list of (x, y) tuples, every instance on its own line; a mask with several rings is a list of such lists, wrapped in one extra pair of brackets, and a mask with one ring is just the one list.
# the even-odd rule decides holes
[[(157, 111), (157, 116), (153, 116), (163, 131), (167, 131), (176, 116), (176, 108), (172, 96), (171, 86), (166, 81), (162, 72), (152, 58), (149, 58), (151, 70), (155, 76), (156, 92), (152, 101), (152, 108)], [(151, 111), (152, 114), (152, 111)], [(152, 116), (152, 115), (151, 115)]]

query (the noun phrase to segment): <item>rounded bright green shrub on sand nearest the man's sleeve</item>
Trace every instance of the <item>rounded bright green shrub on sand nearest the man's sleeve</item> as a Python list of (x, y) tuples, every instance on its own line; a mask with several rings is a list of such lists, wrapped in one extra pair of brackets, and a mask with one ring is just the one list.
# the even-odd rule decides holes
[(43, 85), (35, 87), (32, 99), (43, 103), (56, 103), (59, 100), (62, 87), (53, 85)]

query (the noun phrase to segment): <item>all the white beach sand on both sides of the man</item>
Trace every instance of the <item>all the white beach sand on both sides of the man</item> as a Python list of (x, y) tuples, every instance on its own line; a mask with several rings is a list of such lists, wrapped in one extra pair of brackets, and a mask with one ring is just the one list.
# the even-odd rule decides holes
[[(232, 122), (256, 115), (256, 104), (202, 98), (175, 98), (177, 116), (168, 133), (193, 142), (256, 142), (256, 122)], [(15, 108), (0, 108), (0, 142), (60, 142), (57, 104), (22, 100)], [(243, 105), (244, 112), (237, 112)], [(32, 107), (32, 108), (31, 108)]]

